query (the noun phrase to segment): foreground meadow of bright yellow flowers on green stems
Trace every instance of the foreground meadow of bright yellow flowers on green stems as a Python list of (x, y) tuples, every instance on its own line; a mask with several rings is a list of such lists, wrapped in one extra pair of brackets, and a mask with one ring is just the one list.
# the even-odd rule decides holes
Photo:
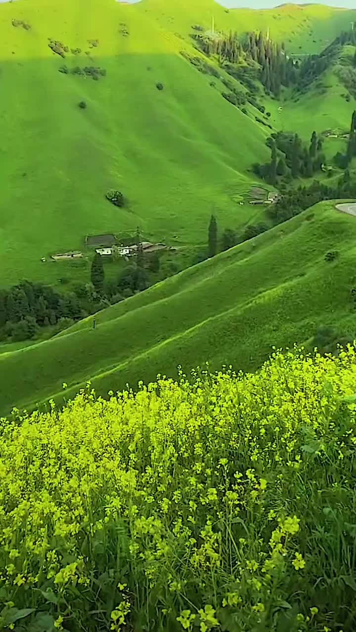
[(2, 420), (0, 629), (352, 632), (355, 349)]

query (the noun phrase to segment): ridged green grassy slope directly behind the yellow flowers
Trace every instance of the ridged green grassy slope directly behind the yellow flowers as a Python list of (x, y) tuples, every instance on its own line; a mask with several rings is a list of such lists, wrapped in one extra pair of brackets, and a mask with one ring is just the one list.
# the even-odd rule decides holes
[[(355, 218), (322, 203), (96, 315), (95, 330), (90, 318), (3, 354), (0, 410), (60, 393), (62, 382), (73, 393), (91, 378), (106, 392), (175, 374), (179, 363), (253, 369), (273, 344), (305, 341), (318, 325), (353, 331), (355, 238)], [(340, 251), (331, 264), (324, 262), (329, 250)]]

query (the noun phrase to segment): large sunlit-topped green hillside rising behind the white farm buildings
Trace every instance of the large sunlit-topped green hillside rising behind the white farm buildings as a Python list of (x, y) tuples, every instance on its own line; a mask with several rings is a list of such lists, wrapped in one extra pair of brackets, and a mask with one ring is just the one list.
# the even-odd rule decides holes
[[(14, 28), (12, 18), (32, 29)], [(48, 37), (83, 51), (99, 39), (99, 47), (91, 58), (63, 60)], [(231, 195), (248, 187), (247, 167), (267, 155), (266, 131), (181, 58), (183, 46), (144, 9), (112, 0), (0, 5), (1, 286), (70, 275), (70, 264), (40, 257), (82, 248), (85, 234), (139, 224), (147, 238), (200, 243), (217, 209), (226, 224), (248, 221), (251, 207), (236, 207)], [(101, 66), (107, 76), (62, 75), (64, 61)], [(125, 192), (128, 209), (106, 202), (111, 186)]]

